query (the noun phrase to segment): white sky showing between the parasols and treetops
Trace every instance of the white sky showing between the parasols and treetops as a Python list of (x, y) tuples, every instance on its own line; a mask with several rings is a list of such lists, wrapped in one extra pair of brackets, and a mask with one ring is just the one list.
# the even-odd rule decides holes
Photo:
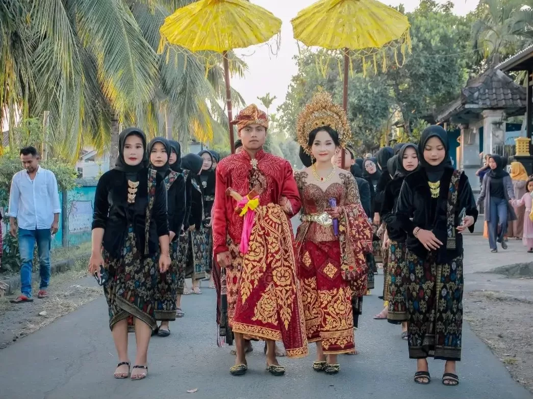
[[(383, 3), (397, 6), (403, 4), (407, 11), (413, 11), (419, 0), (381, 0)], [(237, 54), (245, 54), (248, 72), (244, 79), (233, 77), (231, 85), (243, 95), (247, 104), (260, 105), (257, 96), (266, 93), (277, 96), (270, 112), (275, 112), (278, 105), (285, 100), (290, 78), (297, 73), (293, 56), (297, 54), (298, 47), (293, 37), (293, 27), (290, 20), (296, 17), (298, 11), (313, 4), (316, 0), (253, 0), (254, 4), (269, 10), (283, 21), (281, 26), (281, 47), (277, 56), (272, 55), (267, 46), (255, 46)], [(438, 0), (445, 3), (445, 0)], [(465, 15), (475, 9), (479, 0), (452, 0), (455, 4), (454, 12)], [(260, 105), (261, 107), (261, 105)], [(234, 114), (235, 115), (235, 114)]]

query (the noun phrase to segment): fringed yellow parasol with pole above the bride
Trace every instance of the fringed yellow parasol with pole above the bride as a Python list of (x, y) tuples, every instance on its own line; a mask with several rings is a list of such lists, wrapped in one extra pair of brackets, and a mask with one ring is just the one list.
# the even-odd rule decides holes
[[(343, 107), (348, 110), (349, 52), (361, 58), (364, 72), (372, 61), (377, 72), (377, 60), (393, 48), (398, 62), (398, 50), (405, 58), (410, 51), (409, 21), (402, 13), (376, 0), (320, 0), (300, 11), (292, 21), (294, 38), (307, 46), (328, 50), (344, 50)], [(344, 164), (344, 151), (342, 152)]]

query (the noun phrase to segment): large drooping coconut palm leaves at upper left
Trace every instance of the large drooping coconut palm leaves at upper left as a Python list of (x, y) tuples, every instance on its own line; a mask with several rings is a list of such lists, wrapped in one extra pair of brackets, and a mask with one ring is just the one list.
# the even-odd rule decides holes
[(169, 116), (180, 141), (211, 140), (223, 76), (206, 78), (205, 66), (177, 47), (155, 51), (164, 19), (190, 2), (0, 2), (0, 102), (24, 116), (50, 111), (50, 155), (72, 163), (83, 145), (108, 147), (119, 123), (156, 135)]

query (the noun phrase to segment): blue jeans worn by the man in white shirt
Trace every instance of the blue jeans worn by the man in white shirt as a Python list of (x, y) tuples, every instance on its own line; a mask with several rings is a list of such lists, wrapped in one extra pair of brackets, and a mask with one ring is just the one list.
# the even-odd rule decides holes
[(50, 245), (52, 233), (50, 229), (25, 230), (19, 229), (20, 250), (20, 291), (28, 298), (31, 297), (31, 269), (33, 267), (33, 254), (35, 243), (39, 254), (39, 273), (41, 285), (39, 289), (45, 289), (50, 283)]

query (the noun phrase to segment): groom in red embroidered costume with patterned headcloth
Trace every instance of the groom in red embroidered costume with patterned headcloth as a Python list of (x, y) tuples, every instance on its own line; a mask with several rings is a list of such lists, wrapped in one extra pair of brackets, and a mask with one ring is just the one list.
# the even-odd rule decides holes
[(232, 124), (244, 150), (216, 168), (213, 251), (224, 269), (219, 291), (227, 303), (219, 324), (227, 317), (235, 335), (231, 374), (247, 370), (246, 335), (266, 341), (268, 371), (280, 376), (285, 368), (276, 359), (276, 341), (283, 341), (288, 357), (308, 354), (290, 225), (300, 211), (300, 196), (290, 163), (262, 149), (266, 113), (252, 104)]

